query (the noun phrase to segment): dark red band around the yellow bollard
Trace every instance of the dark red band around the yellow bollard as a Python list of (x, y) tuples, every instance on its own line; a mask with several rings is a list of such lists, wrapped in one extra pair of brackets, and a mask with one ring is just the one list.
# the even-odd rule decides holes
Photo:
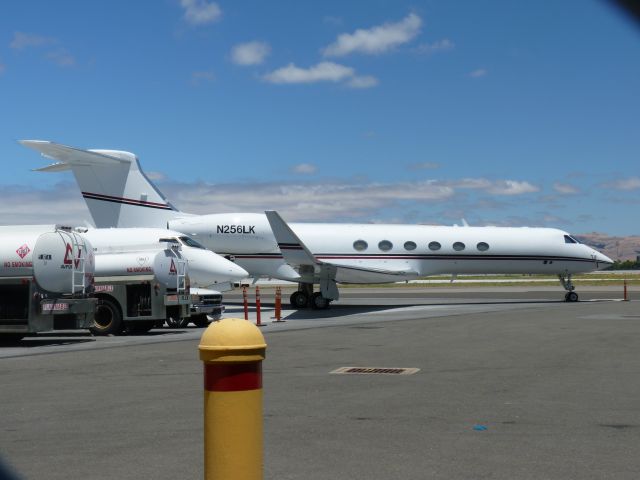
[(204, 365), (204, 389), (208, 392), (240, 392), (260, 388), (262, 362)]

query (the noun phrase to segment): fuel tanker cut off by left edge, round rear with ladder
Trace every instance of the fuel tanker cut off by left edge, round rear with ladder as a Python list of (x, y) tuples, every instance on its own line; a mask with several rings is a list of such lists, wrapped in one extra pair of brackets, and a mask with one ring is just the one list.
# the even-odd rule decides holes
[(93, 247), (53, 225), (0, 227), (0, 341), (49, 330), (89, 328)]

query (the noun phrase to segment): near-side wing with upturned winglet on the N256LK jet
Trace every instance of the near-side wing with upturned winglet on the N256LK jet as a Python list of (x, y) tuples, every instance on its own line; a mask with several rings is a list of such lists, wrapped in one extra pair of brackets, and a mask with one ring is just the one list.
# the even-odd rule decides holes
[[(317, 266), (321, 271), (331, 272), (330, 276), (335, 281), (349, 282), (349, 279), (363, 278), (373, 276), (413, 276), (418, 275), (417, 272), (407, 268), (379, 268), (379, 267), (363, 267), (359, 265), (349, 265), (342, 262), (332, 262), (327, 259), (317, 258), (307, 246), (300, 240), (291, 227), (285, 222), (280, 214), (273, 210), (264, 212), (271, 225), (273, 235), (278, 242), (278, 247), (282, 252), (282, 257), (288, 264), (299, 267), (302, 265)], [(342, 280), (341, 280), (342, 279)]]

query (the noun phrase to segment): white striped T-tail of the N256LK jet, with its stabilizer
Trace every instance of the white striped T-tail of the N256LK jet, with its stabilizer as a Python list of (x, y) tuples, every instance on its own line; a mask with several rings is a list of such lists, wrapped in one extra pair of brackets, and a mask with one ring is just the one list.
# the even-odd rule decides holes
[(44, 140), (21, 140), (58, 163), (39, 172), (71, 170), (97, 227), (160, 227), (180, 212), (140, 168), (138, 157), (119, 150), (83, 150)]

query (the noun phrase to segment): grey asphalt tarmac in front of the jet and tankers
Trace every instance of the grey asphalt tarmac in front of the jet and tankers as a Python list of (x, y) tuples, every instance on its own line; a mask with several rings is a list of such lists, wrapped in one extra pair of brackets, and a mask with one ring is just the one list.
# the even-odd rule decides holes
[[(345, 289), (279, 324), (263, 293), (265, 478), (640, 478), (634, 292), (452, 290)], [(0, 458), (34, 480), (202, 478), (201, 334), (0, 348)]]

